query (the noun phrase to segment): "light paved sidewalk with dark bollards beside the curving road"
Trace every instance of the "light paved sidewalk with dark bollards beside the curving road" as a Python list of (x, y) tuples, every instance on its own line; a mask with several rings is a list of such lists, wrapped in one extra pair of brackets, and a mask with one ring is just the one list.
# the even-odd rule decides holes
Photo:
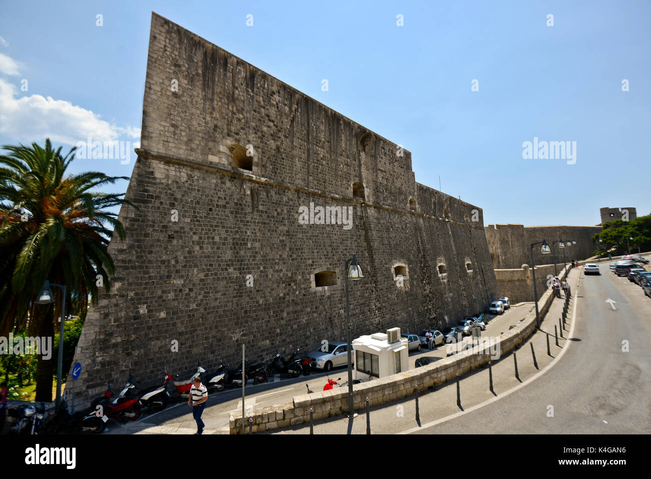
[[(415, 432), (419, 426), (432, 424), (432, 422), (443, 422), (450, 420), (450, 416), (464, 414), (471, 407), (476, 407), (484, 401), (499, 400), (523, 381), (533, 377), (539, 371), (546, 368), (553, 359), (561, 353), (564, 347), (568, 345), (568, 336), (570, 330), (570, 320), (574, 310), (575, 295), (579, 293), (579, 275), (581, 269), (570, 269), (568, 272), (568, 283), (570, 283), (572, 298), (570, 299), (570, 309), (566, 325), (561, 330), (559, 328), (559, 318), (562, 316), (564, 305), (564, 296), (561, 299), (554, 298), (546, 316), (540, 325), (540, 331), (537, 331), (529, 340), (525, 341), (521, 347), (502, 356), (492, 362), (493, 390), (489, 389), (489, 371), (488, 366), (473, 371), (459, 381), (461, 407), (457, 405), (457, 388), (456, 382), (446, 383), (443, 386), (437, 386), (434, 390), (428, 390), (419, 394), (419, 419), (417, 422), (415, 396), (402, 398), (398, 401), (385, 403), (383, 405), (370, 408), (370, 428), (372, 433), (404, 433)], [(517, 325), (516, 327), (521, 327)], [(558, 336), (558, 346), (556, 345), (555, 330)], [(547, 355), (547, 338), (549, 338), (549, 349), (551, 355)], [(538, 368), (534, 366), (533, 356), (531, 354), (531, 344), (533, 344), (536, 355)], [(517, 356), (518, 376), (515, 375), (514, 353)], [(365, 434), (366, 433), (366, 415), (364, 411), (358, 411), (352, 421), (344, 415), (336, 416), (331, 420), (319, 420), (314, 422), (314, 434)], [(419, 424), (420, 423), (420, 424)], [(426, 429), (428, 433), (436, 433), (436, 425)], [(295, 426), (283, 430), (268, 431), (266, 434), (309, 434), (309, 424)], [(490, 433), (490, 431), (486, 431)], [(535, 431), (531, 431), (535, 433)], [(264, 433), (262, 433), (264, 434)]]

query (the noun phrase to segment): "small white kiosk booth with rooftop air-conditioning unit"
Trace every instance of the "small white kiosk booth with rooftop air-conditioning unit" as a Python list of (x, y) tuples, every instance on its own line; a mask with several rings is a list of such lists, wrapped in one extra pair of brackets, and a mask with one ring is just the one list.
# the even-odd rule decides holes
[(409, 343), (400, 338), (400, 328), (360, 336), (352, 342), (355, 379), (369, 381), (409, 369)]

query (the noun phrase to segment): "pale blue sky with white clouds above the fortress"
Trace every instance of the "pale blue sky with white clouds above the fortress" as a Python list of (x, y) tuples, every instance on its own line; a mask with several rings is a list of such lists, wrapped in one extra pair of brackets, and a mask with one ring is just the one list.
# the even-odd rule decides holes
[[(0, 145), (49, 136), (67, 151), (92, 134), (137, 146), (152, 10), (404, 145), (416, 181), (439, 189), (440, 175), (485, 224), (651, 212), (647, 1), (5, 0)], [(575, 164), (524, 159), (534, 137), (575, 141)], [(72, 171), (130, 176), (131, 156)]]

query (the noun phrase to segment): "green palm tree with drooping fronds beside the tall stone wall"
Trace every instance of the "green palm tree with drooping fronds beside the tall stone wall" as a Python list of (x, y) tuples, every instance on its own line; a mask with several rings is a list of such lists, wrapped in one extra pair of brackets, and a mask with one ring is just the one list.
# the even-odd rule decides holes
[[(125, 233), (117, 214), (107, 209), (132, 203), (124, 194), (95, 188), (128, 177), (96, 171), (66, 175), (75, 148), (61, 156), (61, 147), (54, 150), (49, 139), (45, 148), (32, 143), (3, 149), (8, 154), (0, 155), (0, 335), (26, 325), (31, 335), (53, 338), (61, 297), (52, 308), (35, 304), (36, 295), (47, 279), (66, 285), (68, 305), (72, 297), (85, 305), (89, 295), (96, 303), (98, 275), (109, 291), (115, 266), (107, 246), (113, 231), (121, 240)], [(36, 401), (51, 401), (54, 362), (38, 356)]]

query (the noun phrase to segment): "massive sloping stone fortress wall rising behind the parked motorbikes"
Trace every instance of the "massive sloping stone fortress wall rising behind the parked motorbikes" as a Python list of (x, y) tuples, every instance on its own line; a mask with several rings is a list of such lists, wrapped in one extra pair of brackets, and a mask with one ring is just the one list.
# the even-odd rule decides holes
[[(129, 373), (149, 385), (163, 366), (235, 366), (243, 343), (257, 361), (345, 340), (353, 253), (365, 275), (349, 284), (353, 337), (442, 328), (497, 297), (480, 208), (415, 182), (395, 143), (157, 14), (137, 154), (126, 199), (139, 209), (120, 211), (117, 275), (79, 340), (82, 402)], [(340, 210), (326, 222), (318, 207)]]

